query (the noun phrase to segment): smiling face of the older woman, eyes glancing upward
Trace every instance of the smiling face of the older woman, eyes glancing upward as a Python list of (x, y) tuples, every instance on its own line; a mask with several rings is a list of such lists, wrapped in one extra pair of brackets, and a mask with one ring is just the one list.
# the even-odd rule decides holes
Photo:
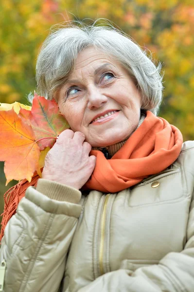
[(74, 132), (83, 132), (91, 146), (103, 147), (137, 128), (141, 94), (117, 61), (89, 47), (78, 55), (58, 105)]

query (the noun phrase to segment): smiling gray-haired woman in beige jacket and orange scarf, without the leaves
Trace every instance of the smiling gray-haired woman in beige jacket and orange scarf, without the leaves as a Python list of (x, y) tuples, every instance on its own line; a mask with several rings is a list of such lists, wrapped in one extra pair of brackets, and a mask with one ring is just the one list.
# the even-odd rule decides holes
[(46, 39), (37, 91), (71, 129), (5, 228), (4, 292), (194, 292), (194, 142), (156, 116), (159, 71), (111, 27)]

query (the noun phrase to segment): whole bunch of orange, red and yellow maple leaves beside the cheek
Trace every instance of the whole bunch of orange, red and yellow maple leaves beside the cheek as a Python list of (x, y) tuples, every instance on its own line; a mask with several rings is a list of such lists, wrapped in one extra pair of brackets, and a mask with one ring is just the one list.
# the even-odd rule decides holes
[[(0, 161), (7, 183), (41, 177), (46, 154), (69, 125), (54, 100), (35, 94), (32, 108), (20, 103), (0, 104)], [(11, 110), (10, 110), (11, 109)]]

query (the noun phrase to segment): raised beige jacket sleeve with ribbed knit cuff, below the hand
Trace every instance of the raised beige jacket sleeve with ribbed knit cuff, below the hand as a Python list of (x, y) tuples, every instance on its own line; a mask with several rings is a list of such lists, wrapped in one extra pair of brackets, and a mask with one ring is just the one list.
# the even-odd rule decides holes
[[(54, 199), (53, 199), (54, 198)], [(3, 292), (57, 292), (81, 205), (81, 192), (40, 179), (30, 186), (1, 241)]]

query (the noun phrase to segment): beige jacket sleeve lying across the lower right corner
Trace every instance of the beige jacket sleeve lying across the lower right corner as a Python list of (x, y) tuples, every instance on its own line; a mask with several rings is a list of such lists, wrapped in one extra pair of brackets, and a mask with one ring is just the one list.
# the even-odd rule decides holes
[(187, 239), (182, 252), (167, 254), (158, 265), (104, 274), (79, 292), (194, 292), (194, 193)]

